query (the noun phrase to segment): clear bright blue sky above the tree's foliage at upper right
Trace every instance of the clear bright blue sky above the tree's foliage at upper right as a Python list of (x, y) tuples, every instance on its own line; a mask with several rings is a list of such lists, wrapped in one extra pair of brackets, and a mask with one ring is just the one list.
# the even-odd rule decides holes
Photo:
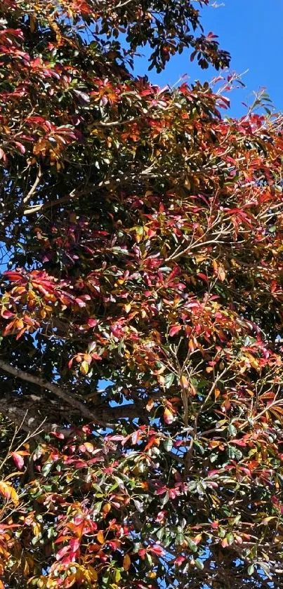
[[(184, 0), (185, 1), (185, 0)], [(213, 4), (213, 2), (212, 2)], [(216, 0), (202, 10), (206, 32), (218, 34), (221, 46), (232, 55), (231, 70), (249, 70), (246, 88), (230, 94), (232, 115), (243, 114), (241, 102), (252, 102), (252, 92), (265, 87), (276, 110), (283, 110), (283, 0)], [(144, 74), (144, 59), (136, 60), (136, 73)], [(149, 72), (150, 80), (164, 86), (176, 84), (188, 74), (190, 79), (210, 80), (214, 70), (202, 72), (191, 64), (189, 53), (176, 55), (162, 74)]]

